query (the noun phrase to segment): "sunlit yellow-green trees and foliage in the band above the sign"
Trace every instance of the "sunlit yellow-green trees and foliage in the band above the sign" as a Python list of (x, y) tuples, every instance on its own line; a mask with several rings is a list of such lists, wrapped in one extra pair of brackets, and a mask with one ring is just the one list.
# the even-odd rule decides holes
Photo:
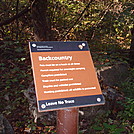
[(48, 36), (55, 32), (53, 40), (55, 37), (61, 40), (72, 27), (62, 40), (86, 40), (95, 47), (99, 45), (98, 48), (130, 46), (134, 19), (132, 0), (92, 0), (91, 3), (84, 0), (1, 0), (0, 3), (1, 40), (31, 40), (33, 27), (45, 28)]

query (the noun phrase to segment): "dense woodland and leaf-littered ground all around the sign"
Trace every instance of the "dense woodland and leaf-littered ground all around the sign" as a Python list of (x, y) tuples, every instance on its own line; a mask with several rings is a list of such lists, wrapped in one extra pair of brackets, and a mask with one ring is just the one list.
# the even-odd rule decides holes
[(87, 41), (96, 68), (128, 64), (129, 77), (114, 87), (123, 95), (120, 110), (84, 122), (79, 131), (133, 133), (133, 0), (0, 0), (0, 114), (17, 134), (53, 134), (55, 126), (34, 123), (23, 94), (33, 80), (29, 41)]

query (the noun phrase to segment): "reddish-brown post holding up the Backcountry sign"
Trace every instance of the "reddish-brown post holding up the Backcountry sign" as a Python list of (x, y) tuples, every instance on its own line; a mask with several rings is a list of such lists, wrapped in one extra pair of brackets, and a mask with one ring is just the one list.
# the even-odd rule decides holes
[(78, 134), (78, 108), (57, 112), (57, 134)]

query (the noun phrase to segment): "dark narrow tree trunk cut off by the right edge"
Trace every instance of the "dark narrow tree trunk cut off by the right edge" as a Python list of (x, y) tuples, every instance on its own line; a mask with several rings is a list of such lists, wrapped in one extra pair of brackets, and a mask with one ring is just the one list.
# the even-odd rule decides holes
[(131, 34), (132, 34), (132, 41), (130, 46), (129, 62), (130, 67), (134, 67), (134, 28), (131, 30)]

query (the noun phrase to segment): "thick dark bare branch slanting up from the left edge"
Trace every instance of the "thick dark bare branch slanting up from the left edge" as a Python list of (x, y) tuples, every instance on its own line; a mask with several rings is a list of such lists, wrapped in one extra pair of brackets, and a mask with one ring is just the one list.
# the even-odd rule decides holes
[(13, 17), (3, 21), (0, 23), (0, 27), (10, 24), (11, 22), (13, 22), (14, 20), (20, 18), (21, 16), (23, 16), (25, 13), (28, 13), (31, 10), (30, 6), (27, 6), (24, 10), (22, 10), (20, 13), (14, 15)]

